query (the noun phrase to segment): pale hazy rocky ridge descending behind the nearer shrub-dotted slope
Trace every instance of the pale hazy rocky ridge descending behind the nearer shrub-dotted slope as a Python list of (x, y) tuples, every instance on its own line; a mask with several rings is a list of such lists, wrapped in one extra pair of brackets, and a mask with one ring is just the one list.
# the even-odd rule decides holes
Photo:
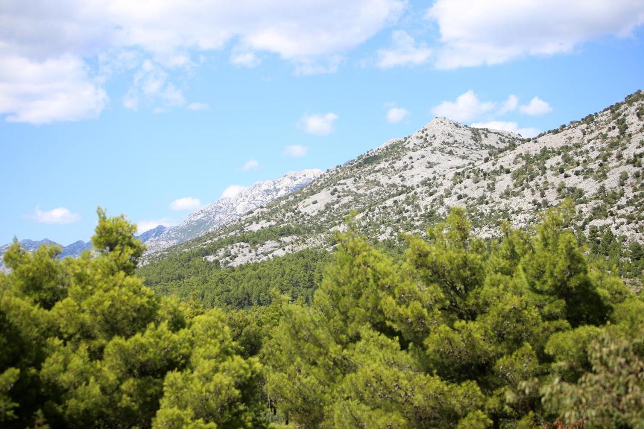
[(276, 198), (288, 195), (310, 183), (323, 172), (318, 169), (290, 171), (280, 178), (256, 182), (232, 197), (224, 197), (194, 212), (175, 227), (169, 227), (147, 242), (147, 254), (187, 242), (229, 224)]

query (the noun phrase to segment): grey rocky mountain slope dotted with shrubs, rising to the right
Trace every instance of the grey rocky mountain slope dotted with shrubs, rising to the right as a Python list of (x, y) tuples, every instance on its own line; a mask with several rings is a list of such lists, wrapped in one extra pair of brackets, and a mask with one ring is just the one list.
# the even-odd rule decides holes
[(641, 91), (533, 139), (436, 118), (147, 262), (181, 252), (182, 258), (240, 265), (330, 248), (332, 231), (351, 210), (361, 231), (385, 240), (423, 233), (449, 207), (461, 205), (477, 234), (490, 236), (502, 220), (527, 227), (540, 210), (565, 198), (576, 203), (579, 231), (608, 227), (622, 240), (641, 241), (643, 158)]

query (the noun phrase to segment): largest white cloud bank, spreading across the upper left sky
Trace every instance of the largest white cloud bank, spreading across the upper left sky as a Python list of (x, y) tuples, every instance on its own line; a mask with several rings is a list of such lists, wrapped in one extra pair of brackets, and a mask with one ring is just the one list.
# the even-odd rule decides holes
[[(96, 117), (110, 73), (132, 68), (126, 107), (190, 106), (156, 67), (189, 69), (197, 54), (233, 39), (244, 47), (233, 49), (233, 64), (256, 66), (256, 52), (268, 52), (301, 74), (330, 72), (405, 8), (404, 0), (8, 0), (0, 12), (0, 115), (35, 124)], [(125, 69), (106, 66), (102, 75), (89, 70), (106, 55), (127, 59), (124, 52), (148, 62), (130, 58)]]

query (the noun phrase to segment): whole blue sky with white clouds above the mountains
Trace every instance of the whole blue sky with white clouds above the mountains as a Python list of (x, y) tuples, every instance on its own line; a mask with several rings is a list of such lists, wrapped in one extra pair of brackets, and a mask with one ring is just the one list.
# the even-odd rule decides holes
[(0, 0), (0, 243), (140, 231), (435, 116), (533, 137), (644, 89), (644, 0)]

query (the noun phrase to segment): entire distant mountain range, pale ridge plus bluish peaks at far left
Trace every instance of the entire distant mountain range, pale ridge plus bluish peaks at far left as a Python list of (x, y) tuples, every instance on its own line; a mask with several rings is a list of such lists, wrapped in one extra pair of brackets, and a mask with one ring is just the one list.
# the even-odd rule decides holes
[[(275, 180), (266, 180), (265, 182), (256, 182), (251, 187), (244, 189), (232, 197), (225, 197), (217, 200), (213, 204), (194, 212), (180, 225), (175, 227), (165, 227), (158, 225), (149, 229), (137, 237), (147, 244), (147, 253), (162, 251), (172, 245), (184, 243), (187, 240), (196, 238), (205, 233), (214, 231), (222, 225), (228, 224), (257, 209), (263, 204), (267, 204), (275, 198), (287, 195), (311, 182), (314, 178), (323, 172), (317, 169), (308, 169), (303, 171), (290, 171), (289, 173)], [(43, 240), (21, 240), (21, 246), (26, 251), (35, 251), (41, 245), (50, 245), (59, 243), (53, 242), (48, 238)], [(11, 243), (0, 246), (0, 270), (6, 271), (2, 261)], [(83, 251), (91, 250), (91, 242), (79, 240), (67, 246), (62, 246), (62, 252), (59, 258), (66, 256), (79, 256)]]

